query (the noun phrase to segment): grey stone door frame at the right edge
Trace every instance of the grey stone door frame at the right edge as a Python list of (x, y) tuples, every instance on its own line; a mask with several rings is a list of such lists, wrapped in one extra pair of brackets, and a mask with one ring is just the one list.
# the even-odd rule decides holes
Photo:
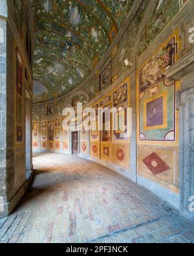
[(194, 211), (189, 211), (189, 198), (194, 196), (194, 110), (191, 112), (193, 102), (194, 84), (177, 92), (177, 108), (180, 110), (180, 207), (186, 215), (194, 218)]

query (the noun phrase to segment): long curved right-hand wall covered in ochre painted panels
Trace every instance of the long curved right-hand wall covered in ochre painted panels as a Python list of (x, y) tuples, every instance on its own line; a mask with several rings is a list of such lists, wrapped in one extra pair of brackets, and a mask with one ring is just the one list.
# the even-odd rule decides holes
[[(138, 1), (136, 3), (138, 5)], [(140, 5), (137, 12), (142, 15), (139, 18), (128, 17), (128, 23), (124, 23), (120, 30), (122, 32), (118, 34), (102, 62), (77, 91), (60, 99), (34, 104), (34, 122), (39, 127), (39, 146), (36, 150), (43, 150), (43, 121), (49, 119), (54, 123), (58, 116), (62, 121), (63, 108), (72, 106), (75, 99), (83, 102), (85, 107), (113, 105), (114, 93), (127, 84), (127, 99), (124, 97), (125, 102), (122, 103), (132, 108), (131, 138), (115, 141), (112, 130), (111, 139), (104, 142), (100, 134), (83, 134), (81, 131), (80, 156), (116, 170), (177, 209), (190, 214), (188, 195), (182, 192), (182, 186), (188, 181), (183, 182), (184, 170), (180, 165), (182, 131), (179, 132), (181, 119), (177, 93), (193, 83), (194, 44), (189, 43), (188, 29), (194, 27), (194, 3), (191, 0), (171, 1), (171, 8), (166, 12), (161, 10), (160, 21), (156, 15), (159, 7), (156, 8), (155, 3), (156, 1), (144, 1), (146, 8)], [(134, 24), (138, 26), (133, 27)], [(161, 25), (159, 29), (156, 29), (157, 24)], [(155, 28), (153, 34), (146, 34), (147, 27)], [(129, 40), (133, 29), (136, 29), (135, 38)], [(124, 60), (128, 60), (127, 65)], [(102, 79), (104, 74), (105, 80)], [(88, 100), (80, 100), (79, 90), (85, 91)], [(122, 91), (123, 96), (124, 93), (125, 90)], [(44, 129), (48, 130), (48, 124), (45, 124)], [(63, 130), (62, 126), (60, 130)], [(70, 131), (61, 132), (60, 140), (54, 139), (54, 143), (59, 144), (59, 141), (58, 152), (72, 154)], [(48, 137), (45, 142), (49, 142)], [(52, 141), (51, 144), (53, 146)], [(45, 150), (56, 150), (56, 144), (54, 148), (50, 148), (48, 143)], [(191, 166), (188, 168), (188, 175), (191, 175)], [(193, 186), (192, 182), (190, 181), (189, 187)]]

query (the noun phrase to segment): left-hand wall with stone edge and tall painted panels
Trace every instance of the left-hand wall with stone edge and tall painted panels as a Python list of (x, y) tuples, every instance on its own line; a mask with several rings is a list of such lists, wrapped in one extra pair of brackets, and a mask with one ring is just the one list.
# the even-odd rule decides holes
[[(23, 196), (26, 179), (26, 93), (32, 104), (33, 25), (30, 1), (4, 1), (1, 37), (1, 188), (0, 216), (10, 213)], [(28, 27), (28, 29), (27, 29)], [(27, 47), (27, 36), (31, 45)], [(30, 47), (30, 48), (29, 48)], [(32, 113), (30, 113), (32, 119)], [(30, 128), (31, 130), (31, 128)], [(31, 147), (31, 143), (29, 145)], [(30, 156), (32, 169), (32, 155)], [(3, 174), (3, 175), (2, 175)]]

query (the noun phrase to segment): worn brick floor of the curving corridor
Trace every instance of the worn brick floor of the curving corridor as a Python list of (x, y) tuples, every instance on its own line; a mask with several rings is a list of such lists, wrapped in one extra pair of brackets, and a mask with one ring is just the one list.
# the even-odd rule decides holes
[(33, 162), (32, 187), (0, 219), (1, 243), (194, 242), (194, 221), (113, 170), (62, 154)]

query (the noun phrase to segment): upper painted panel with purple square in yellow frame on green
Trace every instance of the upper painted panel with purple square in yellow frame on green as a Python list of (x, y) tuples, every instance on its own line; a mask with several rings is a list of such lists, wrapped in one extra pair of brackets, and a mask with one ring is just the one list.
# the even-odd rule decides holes
[(178, 54), (176, 31), (139, 71), (140, 141), (175, 141), (177, 82), (164, 75)]

